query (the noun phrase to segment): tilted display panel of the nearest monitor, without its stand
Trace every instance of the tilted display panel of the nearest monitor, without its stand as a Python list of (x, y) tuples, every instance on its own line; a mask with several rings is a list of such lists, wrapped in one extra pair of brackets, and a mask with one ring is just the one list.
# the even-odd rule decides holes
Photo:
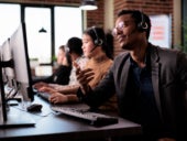
[(33, 101), (34, 95), (28, 53), (26, 30), (23, 22), (10, 36), (10, 50), (12, 53), (18, 90), (22, 95), (23, 100)]

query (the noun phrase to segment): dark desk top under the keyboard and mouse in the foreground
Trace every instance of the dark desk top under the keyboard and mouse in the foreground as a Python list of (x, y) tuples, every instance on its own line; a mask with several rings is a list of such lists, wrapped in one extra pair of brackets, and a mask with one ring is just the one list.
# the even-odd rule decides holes
[[(119, 123), (106, 127), (92, 127), (64, 115), (55, 115), (50, 104), (35, 96), (34, 102), (43, 105), (40, 115), (31, 115), (34, 127), (0, 129), (0, 141), (73, 141), (98, 138), (141, 134), (141, 126), (119, 118)], [(18, 109), (14, 109), (18, 110)], [(19, 110), (19, 112), (26, 113)]]

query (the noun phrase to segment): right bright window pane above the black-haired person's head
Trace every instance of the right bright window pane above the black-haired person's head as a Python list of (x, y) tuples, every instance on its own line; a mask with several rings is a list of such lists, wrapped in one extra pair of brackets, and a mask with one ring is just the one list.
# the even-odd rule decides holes
[(73, 36), (81, 37), (82, 18), (79, 8), (55, 7), (55, 54)]

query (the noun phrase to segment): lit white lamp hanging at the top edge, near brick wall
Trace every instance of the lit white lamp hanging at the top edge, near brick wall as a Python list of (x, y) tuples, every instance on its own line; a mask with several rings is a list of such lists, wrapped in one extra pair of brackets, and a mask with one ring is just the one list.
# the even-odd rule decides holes
[(96, 10), (98, 9), (95, 0), (81, 0), (81, 10)]

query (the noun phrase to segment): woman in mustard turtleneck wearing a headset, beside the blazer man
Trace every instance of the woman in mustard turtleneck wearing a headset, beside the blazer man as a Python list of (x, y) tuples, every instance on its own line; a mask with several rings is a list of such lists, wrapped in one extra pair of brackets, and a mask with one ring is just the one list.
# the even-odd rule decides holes
[[(90, 78), (89, 86), (95, 88), (99, 82), (106, 76), (107, 72), (111, 67), (113, 61), (111, 59), (111, 45), (108, 46), (108, 40), (106, 39), (105, 31), (101, 28), (92, 26), (88, 28), (82, 33), (82, 51), (84, 55), (89, 58), (86, 66), (80, 68), (78, 64), (76, 67), (80, 69), (90, 69), (94, 77)], [(112, 40), (112, 39), (110, 39)], [(107, 42), (108, 41), (108, 42)], [(110, 41), (111, 43), (111, 41)], [(53, 104), (64, 104), (64, 102), (77, 102), (78, 98), (76, 93), (64, 94), (64, 93), (53, 93), (51, 96), (51, 102)], [(117, 99), (112, 97), (107, 102), (105, 102), (99, 109), (102, 110), (117, 110)]]

